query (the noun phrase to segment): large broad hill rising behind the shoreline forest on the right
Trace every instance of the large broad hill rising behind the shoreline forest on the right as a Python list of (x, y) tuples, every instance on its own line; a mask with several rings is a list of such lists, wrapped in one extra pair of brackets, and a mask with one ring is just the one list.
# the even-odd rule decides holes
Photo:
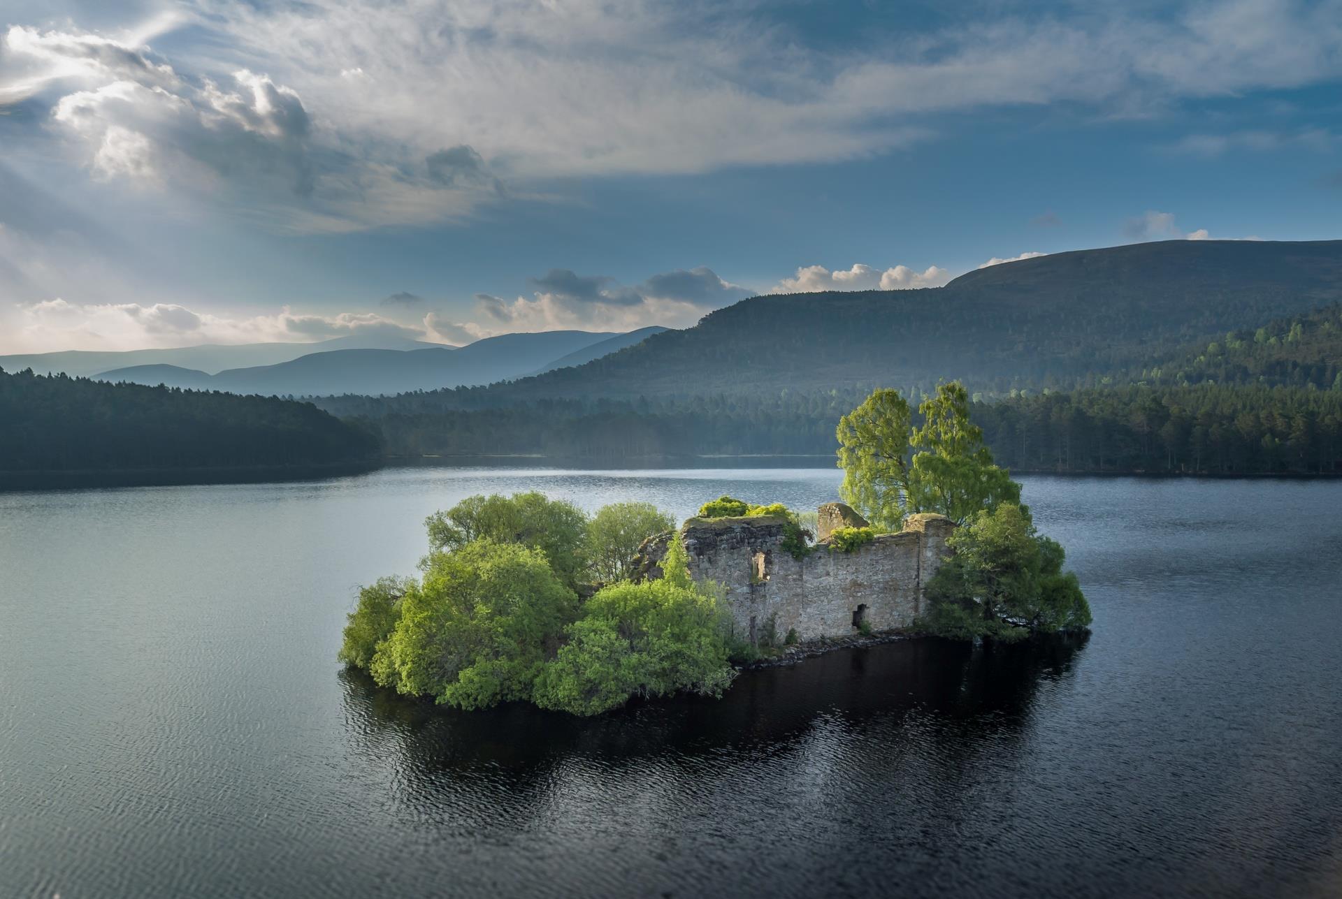
[(586, 365), (439, 392), (435, 404), (927, 389), (941, 378), (986, 392), (1083, 386), (1338, 301), (1342, 242), (1084, 250), (993, 266), (941, 288), (756, 297)]

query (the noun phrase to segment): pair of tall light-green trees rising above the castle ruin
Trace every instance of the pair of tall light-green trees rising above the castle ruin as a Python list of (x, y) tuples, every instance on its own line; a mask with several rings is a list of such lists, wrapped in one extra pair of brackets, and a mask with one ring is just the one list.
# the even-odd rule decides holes
[(980, 509), (1020, 502), (1020, 484), (993, 464), (984, 432), (969, 420), (969, 393), (942, 384), (918, 407), (882, 389), (839, 421), (839, 495), (867, 521), (898, 530), (906, 515), (939, 513), (964, 522)]

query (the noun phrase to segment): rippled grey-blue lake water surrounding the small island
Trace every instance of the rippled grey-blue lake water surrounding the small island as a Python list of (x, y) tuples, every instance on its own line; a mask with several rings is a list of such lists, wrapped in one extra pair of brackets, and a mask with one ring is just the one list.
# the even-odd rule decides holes
[(0, 896), (1342, 895), (1342, 483), (1025, 480), (1095, 613), (721, 702), (456, 714), (336, 664), (482, 491), (815, 507), (832, 470), (0, 494)]

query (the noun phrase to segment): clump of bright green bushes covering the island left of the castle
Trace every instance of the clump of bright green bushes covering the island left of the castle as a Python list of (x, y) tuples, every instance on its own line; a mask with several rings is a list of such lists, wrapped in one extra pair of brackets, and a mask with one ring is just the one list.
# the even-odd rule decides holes
[[(572, 568), (561, 574), (553, 562), (578, 557), (573, 525), (581, 521), (584, 551), (627, 570), (629, 547), (651, 535), (643, 530), (664, 530), (666, 515), (624, 503), (592, 519), (609, 529), (589, 531), (573, 509), (518, 494), (472, 496), (429, 517), (423, 577), (386, 577), (361, 589), (340, 660), (380, 686), (458, 708), (530, 700), (592, 715), (632, 696), (719, 695), (734, 676), (730, 621), (718, 593), (690, 580), (679, 538), (660, 580), (620, 581), (586, 602), (568, 581)], [(558, 537), (518, 526), (519, 510), (538, 513)]]

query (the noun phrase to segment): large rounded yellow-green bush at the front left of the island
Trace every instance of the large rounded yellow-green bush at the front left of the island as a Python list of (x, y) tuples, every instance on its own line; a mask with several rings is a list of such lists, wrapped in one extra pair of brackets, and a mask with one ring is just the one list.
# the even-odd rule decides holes
[(427, 561), (374, 653), (373, 678), (459, 708), (530, 699), (577, 596), (539, 550), (517, 543), (478, 539)]

